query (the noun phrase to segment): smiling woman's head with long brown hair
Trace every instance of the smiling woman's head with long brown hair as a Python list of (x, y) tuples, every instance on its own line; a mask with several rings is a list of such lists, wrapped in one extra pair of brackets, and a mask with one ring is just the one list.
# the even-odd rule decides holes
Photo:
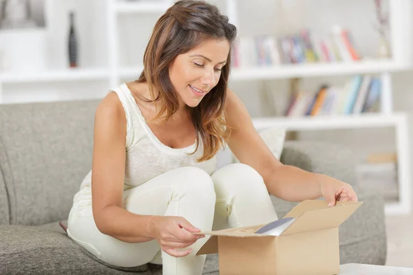
[[(189, 115), (204, 144), (200, 161), (211, 159), (228, 137), (222, 118), (236, 36), (228, 18), (215, 20), (219, 11), (213, 7), (203, 12), (202, 7), (182, 1), (160, 17), (145, 51), (144, 72), (136, 81), (147, 83), (146, 101), (159, 101), (151, 121)], [(142, 98), (139, 92), (136, 96)]]

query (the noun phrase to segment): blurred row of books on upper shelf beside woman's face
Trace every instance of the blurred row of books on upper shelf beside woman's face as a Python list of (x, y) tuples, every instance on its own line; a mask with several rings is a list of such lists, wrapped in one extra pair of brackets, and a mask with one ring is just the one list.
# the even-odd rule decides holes
[(362, 56), (350, 30), (334, 25), (325, 36), (309, 30), (279, 37), (241, 36), (233, 48), (233, 67), (359, 61)]

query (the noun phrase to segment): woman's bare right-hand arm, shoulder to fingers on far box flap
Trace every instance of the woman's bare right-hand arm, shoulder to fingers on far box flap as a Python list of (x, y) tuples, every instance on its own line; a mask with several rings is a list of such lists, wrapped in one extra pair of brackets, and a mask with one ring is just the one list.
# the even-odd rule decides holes
[(226, 96), (225, 111), (226, 122), (231, 127), (228, 142), (231, 151), (240, 162), (260, 173), (272, 195), (286, 201), (318, 197), (325, 197), (334, 204), (336, 200), (357, 201), (357, 195), (349, 184), (279, 162), (255, 130), (244, 104), (230, 90)]

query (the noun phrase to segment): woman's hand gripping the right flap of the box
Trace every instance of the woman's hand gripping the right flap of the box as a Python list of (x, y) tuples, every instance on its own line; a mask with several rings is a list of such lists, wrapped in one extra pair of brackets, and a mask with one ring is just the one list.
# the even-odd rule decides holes
[(336, 201), (358, 201), (356, 192), (350, 184), (332, 177), (321, 176), (320, 189), (328, 206), (335, 206)]

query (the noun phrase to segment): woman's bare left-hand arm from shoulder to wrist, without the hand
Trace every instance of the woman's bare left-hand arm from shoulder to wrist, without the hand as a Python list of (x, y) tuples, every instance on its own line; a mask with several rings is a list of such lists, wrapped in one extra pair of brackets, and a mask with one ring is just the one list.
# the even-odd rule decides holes
[(123, 208), (126, 118), (115, 93), (108, 94), (96, 109), (92, 160), (92, 209), (100, 232), (120, 241), (150, 241), (152, 216)]

